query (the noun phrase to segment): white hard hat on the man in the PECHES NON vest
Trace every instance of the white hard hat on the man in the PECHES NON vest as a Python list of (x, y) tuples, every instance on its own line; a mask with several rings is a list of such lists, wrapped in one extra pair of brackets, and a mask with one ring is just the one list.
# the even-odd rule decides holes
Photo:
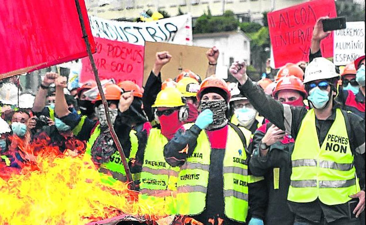
[(330, 79), (338, 77), (336, 66), (326, 58), (315, 58), (307, 65), (305, 69), (305, 78), (303, 83), (316, 81), (320, 79)]

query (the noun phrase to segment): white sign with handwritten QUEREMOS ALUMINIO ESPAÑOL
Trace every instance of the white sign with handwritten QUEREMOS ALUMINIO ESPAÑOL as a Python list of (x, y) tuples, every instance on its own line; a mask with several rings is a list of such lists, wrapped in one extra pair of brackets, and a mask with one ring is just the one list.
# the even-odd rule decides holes
[(333, 62), (346, 65), (365, 55), (365, 22), (347, 22), (346, 29), (334, 31)]

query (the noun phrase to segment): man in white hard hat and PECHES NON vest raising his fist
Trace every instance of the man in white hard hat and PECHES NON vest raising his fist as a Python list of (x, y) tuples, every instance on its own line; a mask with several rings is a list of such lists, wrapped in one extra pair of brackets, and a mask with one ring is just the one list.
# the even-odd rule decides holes
[[(365, 120), (339, 109), (334, 101), (338, 80), (335, 65), (315, 58), (306, 67), (309, 111), (266, 96), (253, 85), (245, 69), (237, 63), (230, 67), (241, 84), (240, 91), (261, 115), (295, 139), (287, 198), (295, 214), (294, 225), (360, 224), (365, 181), (358, 181), (356, 168), (365, 174)], [(363, 162), (355, 160), (358, 157)]]

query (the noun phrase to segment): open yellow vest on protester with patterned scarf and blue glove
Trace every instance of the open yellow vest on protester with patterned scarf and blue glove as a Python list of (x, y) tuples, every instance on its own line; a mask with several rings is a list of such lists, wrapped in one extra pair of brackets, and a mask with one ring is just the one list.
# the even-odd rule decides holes
[[(242, 131), (249, 144), (251, 133), (244, 129)], [(263, 177), (248, 175), (246, 150), (239, 135), (230, 126), (227, 140), (223, 161), (224, 213), (231, 220), (245, 222), (248, 212), (248, 183), (263, 180)], [(203, 130), (198, 135), (193, 154), (180, 167), (177, 182), (178, 214), (198, 215), (205, 209), (210, 154), (210, 142)]]

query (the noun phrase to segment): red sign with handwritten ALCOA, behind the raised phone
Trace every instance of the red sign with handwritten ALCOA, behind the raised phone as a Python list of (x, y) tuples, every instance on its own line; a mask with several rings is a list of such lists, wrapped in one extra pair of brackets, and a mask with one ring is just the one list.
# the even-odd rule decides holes
[[(267, 14), (275, 67), (309, 61), (315, 22), (337, 17), (334, 0), (314, 0)], [(333, 57), (333, 33), (321, 42), (323, 57)]]

